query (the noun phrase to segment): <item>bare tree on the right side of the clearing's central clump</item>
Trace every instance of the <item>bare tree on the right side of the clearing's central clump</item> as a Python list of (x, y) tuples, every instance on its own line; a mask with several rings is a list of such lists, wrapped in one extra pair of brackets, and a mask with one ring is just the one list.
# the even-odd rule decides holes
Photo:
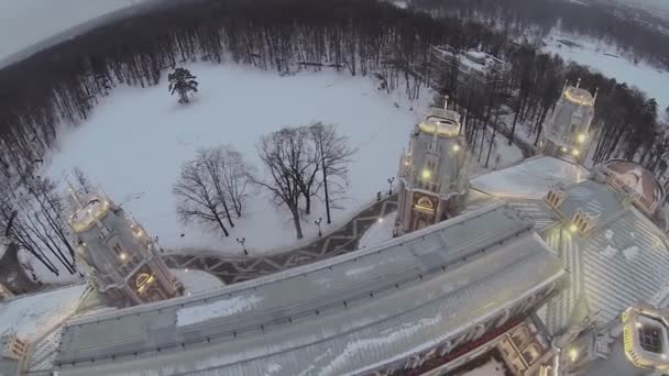
[(311, 140), (318, 151), (321, 186), (326, 201), (326, 219), (331, 223), (332, 192), (343, 192), (349, 185), (350, 157), (355, 152), (349, 147), (349, 139), (337, 134), (333, 124), (314, 123), (309, 126)]

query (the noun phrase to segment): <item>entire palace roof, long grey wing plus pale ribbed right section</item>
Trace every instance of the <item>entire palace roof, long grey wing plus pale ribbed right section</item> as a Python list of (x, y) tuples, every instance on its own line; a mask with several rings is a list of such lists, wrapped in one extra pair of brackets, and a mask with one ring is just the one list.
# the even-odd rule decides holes
[[(459, 217), (375, 247), (72, 320), (57, 362), (68, 375), (339, 375), (410, 356), (563, 275), (539, 311), (553, 334), (669, 301), (667, 235), (591, 176), (539, 156), (474, 177)], [(544, 197), (556, 185), (553, 210)], [(585, 234), (571, 231), (578, 210), (596, 221)]]

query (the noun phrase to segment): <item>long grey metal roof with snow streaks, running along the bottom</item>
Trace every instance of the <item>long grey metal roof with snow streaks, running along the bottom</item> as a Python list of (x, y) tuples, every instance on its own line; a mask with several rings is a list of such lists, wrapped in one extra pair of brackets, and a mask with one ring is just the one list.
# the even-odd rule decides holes
[[(561, 278), (561, 264), (529, 235), (530, 226), (508, 207), (493, 204), (382, 246), (229, 286), (199, 300), (172, 299), (117, 312), (128, 314), (73, 321), (59, 361), (64, 367), (85, 360), (77, 366), (105, 364), (140, 374), (212, 367), (226, 375), (262, 375), (267, 364), (276, 365), (276, 376), (363, 371), (457, 335)], [(508, 241), (500, 245), (504, 239)], [(448, 265), (448, 273), (441, 265)], [(349, 273), (363, 267), (364, 273)], [(416, 275), (428, 277), (418, 281)], [(416, 283), (405, 283), (409, 279)], [(189, 308), (198, 314), (216, 308), (220, 314), (176, 325), (174, 318)], [(157, 322), (171, 334), (155, 335)], [(97, 335), (101, 330), (109, 333), (103, 341)], [(180, 341), (209, 336), (206, 352), (188, 345), (180, 351)], [(179, 351), (168, 352), (171, 341), (177, 341)], [(119, 347), (121, 343), (125, 345)], [(165, 355), (156, 356), (155, 346)], [(145, 353), (119, 353), (135, 349)], [(112, 354), (118, 355), (112, 360)]]

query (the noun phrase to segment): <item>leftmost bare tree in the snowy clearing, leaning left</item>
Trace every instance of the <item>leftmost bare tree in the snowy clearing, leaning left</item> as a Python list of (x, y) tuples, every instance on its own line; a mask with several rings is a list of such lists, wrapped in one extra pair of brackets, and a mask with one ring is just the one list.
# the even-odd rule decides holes
[(172, 191), (177, 197), (177, 215), (184, 223), (195, 220), (219, 228), (226, 236), (230, 235), (223, 223), (226, 213), (217, 197), (216, 188), (200, 161), (190, 161), (182, 165), (179, 178)]

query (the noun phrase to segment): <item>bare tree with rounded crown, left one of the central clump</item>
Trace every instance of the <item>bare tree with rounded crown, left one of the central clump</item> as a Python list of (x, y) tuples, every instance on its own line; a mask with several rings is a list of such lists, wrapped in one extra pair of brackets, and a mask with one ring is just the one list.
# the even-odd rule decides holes
[(277, 207), (286, 206), (293, 215), (297, 239), (304, 237), (299, 219), (299, 198), (303, 196), (296, 172), (306, 169), (309, 164), (305, 155), (304, 132), (297, 128), (284, 128), (263, 136), (257, 153), (270, 175), (268, 180), (256, 179), (256, 184), (274, 196)]

